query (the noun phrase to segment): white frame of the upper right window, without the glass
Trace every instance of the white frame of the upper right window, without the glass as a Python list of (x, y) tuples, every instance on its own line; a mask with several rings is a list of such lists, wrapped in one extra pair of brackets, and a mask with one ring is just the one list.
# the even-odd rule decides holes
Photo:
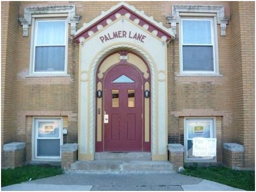
[[(212, 41), (212, 49), (213, 49), (213, 71), (184, 71), (183, 70), (183, 28), (182, 21), (183, 20), (210, 20), (211, 21), (211, 41)], [(217, 41), (217, 20), (214, 14), (210, 14), (209, 16), (205, 14), (180, 14), (180, 30), (179, 30), (179, 60), (180, 60), (180, 75), (219, 75), (218, 70), (218, 41)], [(196, 44), (184, 44), (184, 45), (196, 45)], [(204, 45), (204, 44), (200, 44)], [(209, 45), (209, 44), (205, 44)]]

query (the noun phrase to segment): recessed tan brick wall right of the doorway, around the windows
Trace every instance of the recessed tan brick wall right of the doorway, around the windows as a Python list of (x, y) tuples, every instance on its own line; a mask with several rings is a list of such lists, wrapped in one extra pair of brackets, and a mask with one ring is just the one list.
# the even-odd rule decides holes
[[(205, 3), (205, 2), (204, 2)], [(208, 2), (212, 5), (213, 2)], [(224, 5), (226, 16), (229, 15), (229, 5)], [(182, 4), (186, 4), (182, 2)], [(220, 26), (217, 25), (219, 77), (178, 76), (179, 74), (179, 25), (174, 42), (168, 48), (168, 114), (169, 142), (183, 142), (184, 128), (179, 129), (178, 117), (223, 117), (222, 140), (234, 140), (232, 131), (232, 52), (231, 26), (227, 25), (226, 36), (220, 36)], [(207, 112), (206, 112), (207, 111)], [(177, 136), (179, 135), (179, 136)]]

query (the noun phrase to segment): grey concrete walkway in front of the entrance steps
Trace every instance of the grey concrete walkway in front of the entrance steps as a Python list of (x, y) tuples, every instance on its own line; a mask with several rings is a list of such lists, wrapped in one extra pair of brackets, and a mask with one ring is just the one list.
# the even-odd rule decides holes
[(66, 173), (23, 182), (1, 190), (241, 190), (196, 177), (170, 174), (79, 174)]

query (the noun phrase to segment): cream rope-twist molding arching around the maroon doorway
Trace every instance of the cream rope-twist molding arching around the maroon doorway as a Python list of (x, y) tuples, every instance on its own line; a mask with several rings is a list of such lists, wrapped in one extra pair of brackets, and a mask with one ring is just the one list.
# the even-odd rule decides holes
[[(148, 55), (141, 50), (140, 48), (133, 46), (133, 45), (128, 45), (128, 44), (120, 44), (120, 45), (114, 45), (111, 46), (104, 51), (101, 52), (100, 55), (97, 56), (97, 58), (94, 60), (92, 68), (91, 68), (91, 73), (90, 73), (90, 144), (89, 144), (89, 151), (90, 153), (94, 152), (94, 126), (95, 126), (95, 75), (96, 75), (96, 70), (97, 66), (100, 63), (100, 61), (111, 51), (118, 49), (118, 48), (126, 48), (126, 49), (131, 49), (133, 51), (136, 51), (137, 53), (141, 54), (146, 61), (149, 64), (150, 70), (151, 70), (151, 86), (152, 86), (152, 91), (155, 92), (155, 70), (154, 70), (154, 65), (151, 59), (148, 57)], [(156, 153), (156, 106), (155, 106), (155, 95), (151, 95), (152, 98), (152, 107), (151, 107), (151, 131), (152, 131), (152, 139), (151, 139), (151, 152), (152, 154)]]

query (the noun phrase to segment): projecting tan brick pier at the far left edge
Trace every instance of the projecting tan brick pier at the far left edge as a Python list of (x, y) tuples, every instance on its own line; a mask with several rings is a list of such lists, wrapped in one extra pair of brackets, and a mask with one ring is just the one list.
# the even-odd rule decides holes
[[(16, 45), (19, 2), (1, 2), (1, 151), (15, 139)], [(3, 163), (3, 158), (2, 158)]]

